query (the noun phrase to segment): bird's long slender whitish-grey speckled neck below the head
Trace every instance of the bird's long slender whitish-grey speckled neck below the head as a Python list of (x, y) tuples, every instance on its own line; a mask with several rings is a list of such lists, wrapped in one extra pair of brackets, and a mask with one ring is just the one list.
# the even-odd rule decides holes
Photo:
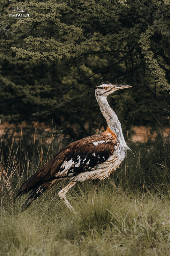
[(110, 108), (108, 102), (107, 102), (107, 97), (105, 96), (97, 96), (96, 97), (97, 102), (99, 103), (101, 113), (106, 119), (106, 122), (108, 124), (108, 127), (112, 132), (115, 133), (116, 135), (116, 140), (119, 142), (120, 148), (123, 150), (127, 149), (126, 142), (123, 137), (122, 133), (122, 127), (121, 123), (118, 120), (117, 115), (113, 111), (112, 108)]

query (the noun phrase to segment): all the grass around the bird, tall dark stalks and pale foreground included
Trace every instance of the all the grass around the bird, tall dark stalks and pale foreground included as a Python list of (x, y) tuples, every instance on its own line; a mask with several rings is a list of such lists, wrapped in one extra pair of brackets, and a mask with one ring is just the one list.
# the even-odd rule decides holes
[(135, 157), (128, 152), (100, 183), (94, 205), (91, 181), (72, 188), (67, 198), (76, 215), (57, 195), (63, 183), (21, 212), (26, 196), (14, 204), (16, 188), (62, 147), (52, 137), (50, 148), (33, 138), (32, 151), (21, 147), (20, 154), (14, 140), (8, 157), (1, 150), (0, 256), (170, 255), (169, 138), (129, 145)]

